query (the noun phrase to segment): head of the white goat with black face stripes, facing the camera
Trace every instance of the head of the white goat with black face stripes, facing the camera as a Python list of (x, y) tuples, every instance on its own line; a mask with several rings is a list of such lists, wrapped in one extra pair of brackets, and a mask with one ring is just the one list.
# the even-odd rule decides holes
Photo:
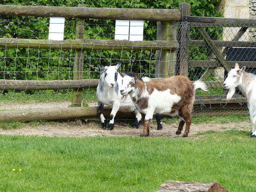
[(122, 61), (120, 61), (116, 66), (104, 67), (102, 66), (102, 64), (100, 64), (100, 69), (102, 70), (100, 76), (102, 77), (102, 80), (104, 80), (106, 84), (110, 86), (110, 88), (114, 88), (116, 84), (118, 68), (120, 67), (121, 64), (122, 64)]

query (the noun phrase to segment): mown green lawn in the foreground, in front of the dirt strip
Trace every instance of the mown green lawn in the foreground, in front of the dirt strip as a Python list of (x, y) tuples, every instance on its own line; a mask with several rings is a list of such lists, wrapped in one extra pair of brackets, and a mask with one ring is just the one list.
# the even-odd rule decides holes
[(154, 192), (167, 180), (216, 181), (232, 192), (256, 191), (255, 139), (249, 132), (199, 135), (0, 135), (0, 191)]

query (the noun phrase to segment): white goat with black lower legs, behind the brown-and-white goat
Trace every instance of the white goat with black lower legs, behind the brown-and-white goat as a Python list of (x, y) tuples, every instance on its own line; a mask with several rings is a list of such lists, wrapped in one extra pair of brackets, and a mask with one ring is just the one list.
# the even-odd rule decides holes
[[(106, 127), (106, 130), (112, 130), (114, 128), (114, 118), (118, 110), (121, 112), (135, 112), (136, 119), (132, 125), (134, 128), (138, 128), (139, 121), (142, 118), (140, 112), (136, 109), (130, 97), (126, 100), (123, 100), (123, 96), (120, 94), (119, 90), (122, 85), (122, 77), (118, 73), (118, 68), (121, 64), (122, 61), (120, 61), (116, 66), (104, 67), (100, 64), (101, 74), (100, 81), (97, 86), (96, 96), (98, 99), (98, 114), (100, 115), (102, 127)], [(131, 75), (131, 73), (128, 74)], [(146, 78), (142, 80), (146, 81)], [(102, 114), (104, 104), (112, 107), (112, 111), (110, 113), (110, 122), (108, 126), (106, 119)], [(156, 121), (158, 123), (158, 130), (162, 129), (160, 116), (156, 116)]]

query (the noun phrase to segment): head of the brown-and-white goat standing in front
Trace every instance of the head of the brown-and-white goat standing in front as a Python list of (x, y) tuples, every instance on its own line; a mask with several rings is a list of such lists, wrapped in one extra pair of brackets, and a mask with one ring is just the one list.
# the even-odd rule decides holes
[(137, 83), (138, 80), (138, 73), (136, 73), (135, 77), (126, 76), (121, 74), (123, 77), (122, 79), (122, 86), (120, 89), (120, 93), (124, 96), (127, 96), (130, 92), (134, 90), (134, 85)]

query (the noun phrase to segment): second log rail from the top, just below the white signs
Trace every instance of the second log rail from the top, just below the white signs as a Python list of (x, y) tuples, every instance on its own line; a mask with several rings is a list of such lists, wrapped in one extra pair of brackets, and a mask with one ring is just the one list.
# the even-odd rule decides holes
[(39, 40), (0, 38), (2, 48), (40, 48), (74, 50), (176, 50), (178, 42), (172, 41), (128, 41), (98, 39)]

